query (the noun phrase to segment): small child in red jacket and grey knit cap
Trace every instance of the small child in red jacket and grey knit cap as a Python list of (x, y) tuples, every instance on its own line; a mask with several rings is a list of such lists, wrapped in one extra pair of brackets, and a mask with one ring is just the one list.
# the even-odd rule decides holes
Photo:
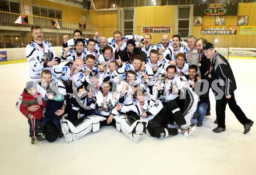
[[(36, 140), (44, 140), (42, 136), (38, 136), (38, 126), (40, 126), (42, 120), (42, 109), (45, 108), (46, 104), (41, 100), (38, 103), (38, 99), (41, 97), (40, 93), (37, 93), (37, 88), (33, 81), (27, 82), (26, 88), (22, 93), (22, 103), (20, 104), (20, 112), (26, 116), (29, 122), (29, 132), (31, 137), (31, 144), (35, 144)], [(40, 98), (41, 99), (41, 98)], [(27, 110), (27, 107), (31, 105), (37, 105), (38, 110), (31, 112)]]

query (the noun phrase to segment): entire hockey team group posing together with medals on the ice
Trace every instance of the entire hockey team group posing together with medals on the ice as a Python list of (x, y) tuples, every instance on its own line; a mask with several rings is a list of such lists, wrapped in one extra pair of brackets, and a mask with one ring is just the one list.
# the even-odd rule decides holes
[[(16, 102), (29, 123), (31, 144), (58, 139), (71, 144), (102, 127), (116, 129), (135, 143), (144, 134), (193, 137), (202, 126), (222, 134), (229, 129), (227, 104), (241, 133), (253, 126), (236, 102), (239, 82), (229, 61), (205, 38), (190, 35), (185, 42), (180, 35), (163, 34), (152, 43), (151, 34), (113, 31), (106, 38), (95, 31), (93, 38), (84, 38), (77, 29), (63, 35), (62, 52), (56, 53), (43, 39), (40, 25), (31, 27), (31, 36), (26, 46), (31, 81), (24, 83)], [(205, 125), (209, 116), (215, 128)]]

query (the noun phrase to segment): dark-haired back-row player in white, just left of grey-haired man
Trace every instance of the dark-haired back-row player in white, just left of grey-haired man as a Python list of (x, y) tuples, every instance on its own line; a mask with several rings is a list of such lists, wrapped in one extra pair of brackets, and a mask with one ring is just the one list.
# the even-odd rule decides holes
[(173, 35), (172, 37), (172, 46), (169, 47), (170, 51), (170, 60), (175, 61), (178, 53), (184, 53), (186, 55), (187, 60), (187, 48), (186, 46), (182, 46), (180, 41), (180, 35)]

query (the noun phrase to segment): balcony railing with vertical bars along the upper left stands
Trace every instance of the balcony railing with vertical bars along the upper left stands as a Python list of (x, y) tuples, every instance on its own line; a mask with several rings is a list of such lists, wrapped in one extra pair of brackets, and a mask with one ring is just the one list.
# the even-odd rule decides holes
[[(59, 23), (58, 30), (60, 33), (69, 33), (79, 28), (79, 23), (84, 23), (83, 21), (70, 21), (62, 19), (51, 19), (49, 17), (33, 16), (26, 14), (28, 16), (28, 24), (15, 24), (18, 17), (22, 15), (19, 13), (3, 12), (0, 11), (0, 30), (14, 30), (14, 31), (30, 31), (31, 26), (40, 25), (44, 31), (54, 32), (58, 30), (56, 27), (52, 26), (52, 20), (57, 20)], [(86, 24), (86, 31), (84, 33), (90, 35), (97, 31), (97, 25)]]

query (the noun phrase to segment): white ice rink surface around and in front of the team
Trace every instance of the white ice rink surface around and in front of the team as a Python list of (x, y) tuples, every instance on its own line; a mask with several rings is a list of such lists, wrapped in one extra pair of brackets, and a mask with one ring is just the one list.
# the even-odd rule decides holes
[[(237, 104), (256, 122), (256, 60), (230, 59), (236, 78)], [(214, 133), (211, 116), (191, 136), (141, 136), (137, 144), (114, 127), (103, 127), (66, 144), (30, 144), (27, 119), (15, 107), (29, 78), (29, 64), (0, 65), (1, 174), (256, 174), (256, 123), (250, 133), (226, 107), (226, 132)]]

